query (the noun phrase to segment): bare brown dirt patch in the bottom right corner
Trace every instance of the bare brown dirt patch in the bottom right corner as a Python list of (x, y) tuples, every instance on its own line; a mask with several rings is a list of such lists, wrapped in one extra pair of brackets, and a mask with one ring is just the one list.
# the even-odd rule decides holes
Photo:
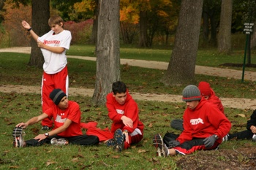
[(189, 170), (256, 169), (256, 148), (245, 146), (233, 150), (199, 151), (196, 154), (182, 156), (176, 163), (178, 168)]

